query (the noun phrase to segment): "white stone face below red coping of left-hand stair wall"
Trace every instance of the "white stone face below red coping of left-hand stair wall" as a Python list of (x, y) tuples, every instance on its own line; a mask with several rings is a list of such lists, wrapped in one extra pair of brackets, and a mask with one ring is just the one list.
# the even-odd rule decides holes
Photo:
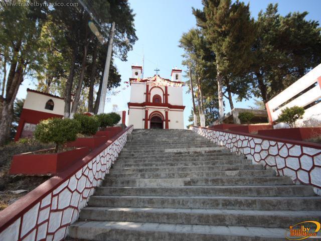
[(83, 168), (42, 198), (27, 212), (0, 233), (0, 240), (60, 241), (67, 235), (68, 226), (77, 220), (95, 187), (109, 173), (133, 127), (110, 144)]

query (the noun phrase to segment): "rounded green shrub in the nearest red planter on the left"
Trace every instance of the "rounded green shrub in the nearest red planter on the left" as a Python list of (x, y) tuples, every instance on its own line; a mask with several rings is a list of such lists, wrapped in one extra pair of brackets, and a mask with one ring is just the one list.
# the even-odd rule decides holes
[(55, 152), (61, 145), (75, 141), (80, 130), (80, 123), (75, 119), (50, 118), (40, 122), (34, 137), (41, 143), (55, 143)]

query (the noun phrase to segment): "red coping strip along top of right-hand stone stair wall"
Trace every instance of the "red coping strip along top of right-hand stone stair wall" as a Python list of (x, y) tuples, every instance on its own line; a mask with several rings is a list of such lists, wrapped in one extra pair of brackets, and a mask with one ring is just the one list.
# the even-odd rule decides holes
[[(195, 126), (193, 126), (193, 127), (195, 127)], [(292, 145), (299, 145), (299, 146), (310, 147), (310, 148), (315, 148), (315, 149), (321, 149), (321, 144), (316, 144), (316, 143), (294, 141), (294, 140), (288, 140), (288, 139), (283, 139), (283, 138), (272, 138), (272, 137), (267, 137), (267, 136), (262, 136), (262, 135), (257, 135), (257, 134), (240, 133), (240, 132), (233, 132), (233, 131), (228, 131), (228, 130), (219, 130), (219, 129), (214, 129), (214, 128), (209, 129), (206, 127), (195, 127), (195, 128), (201, 128), (201, 129), (205, 129), (205, 130), (209, 130), (209, 131), (216, 131), (216, 132), (225, 132), (225, 133), (235, 134), (235, 135), (239, 135), (239, 136), (254, 137), (254, 138), (259, 138), (259, 139), (274, 141), (274, 142), (283, 142), (283, 143), (288, 143), (288, 144), (292, 144)]]

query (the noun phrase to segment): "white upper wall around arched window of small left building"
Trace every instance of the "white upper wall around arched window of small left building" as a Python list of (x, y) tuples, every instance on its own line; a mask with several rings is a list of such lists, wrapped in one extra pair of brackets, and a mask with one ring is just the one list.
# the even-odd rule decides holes
[[(49, 99), (54, 101), (54, 109), (45, 109), (45, 105)], [(52, 114), (64, 115), (65, 101), (60, 98), (48, 96), (45, 94), (27, 91), (26, 100), (24, 103), (25, 109), (32, 109)]]

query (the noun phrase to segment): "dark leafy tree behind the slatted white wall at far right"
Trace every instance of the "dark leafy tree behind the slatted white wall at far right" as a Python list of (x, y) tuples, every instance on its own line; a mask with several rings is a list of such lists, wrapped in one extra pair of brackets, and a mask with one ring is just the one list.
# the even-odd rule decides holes
[(282, 17), (277, 7), (269, 4), (258, 15), (254, 61), (248, 70), (251, 92), (264, 103), (321, 62), (318, 23), (305, 20), (307, 12)]

